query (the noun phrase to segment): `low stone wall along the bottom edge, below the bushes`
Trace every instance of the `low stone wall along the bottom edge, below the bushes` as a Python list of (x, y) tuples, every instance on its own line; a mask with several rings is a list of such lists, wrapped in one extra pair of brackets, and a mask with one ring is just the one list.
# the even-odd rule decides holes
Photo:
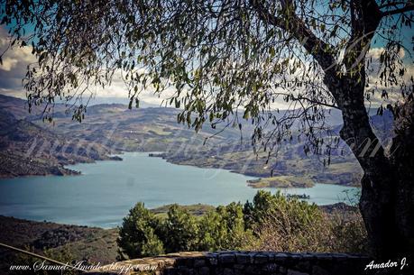
[(357, 275), (369, 259), (339, 253), (180, 252), (119, 261), (91, 274), (165, 275)]

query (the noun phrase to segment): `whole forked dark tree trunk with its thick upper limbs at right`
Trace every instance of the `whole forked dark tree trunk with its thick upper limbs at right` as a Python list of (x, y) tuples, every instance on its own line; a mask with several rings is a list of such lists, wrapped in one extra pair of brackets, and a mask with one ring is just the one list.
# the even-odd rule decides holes
[[(386, 14), (373, 0), (351, 1), (352, 35), (345, 49), (343, 64), (336, 64), (330, 45), (318, 39), (296, 14), (290, 13), (291, 1), (282, 2), (281, 10), (285, 16), (269, 13), (259, 0), (252, 0), (251, 5), (264, 23), (290, 32), (301, 41), (305, 50), (324, 69), (324, 83), (343, 115), (344, 126), (340, 136), (363, 168), (359, 206), (373, 255), (382, 259), (414, 255), (414, 112), (409, 113), (410, 120), (405, 120), (399, 128), (400, 133), (397, 129), (391, 148), (394, 154), (388, 156), (373, 133), (363, 98), (367, 46)], [(346, 73), (342, 72), (342, 65)], [(413, 104), (406, 108), (412, 111)], [(407, 114), (401, 117), (407, 118)], [(414, 262), (411, 265), (414, 266)]]

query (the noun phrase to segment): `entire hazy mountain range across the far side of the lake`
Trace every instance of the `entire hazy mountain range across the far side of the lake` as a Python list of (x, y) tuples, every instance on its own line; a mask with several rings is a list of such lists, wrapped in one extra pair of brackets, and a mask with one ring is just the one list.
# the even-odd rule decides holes
[[(129, 110), (119, 103), (90, 105), (79, 124), (71, 119), (66, 105), (56, 104), (50, 124), (41, 121), (41, 108), (28, 114), (24, 104), (22, 99), (0, 95), (0, 161), (13, 163), (0, 170), (6, 177), (31, 174), (36, 169), (24, 168), (32, 167), (32, 163), (41, 167), (36, 174), (65, 174), (65, 164), (106, 160), (110, 153), (120, 151), (162, 151), (161, 157), (176, 164), (223, 168), (257, 177), (293, 175), (343, 185), (358, 185), (362, 177), (361, 168), (345, 144), (345, 154), (334, 151), (330, 165), (324, 165), (319, 156), (306, 155), (303, 143), (297, 140), (286, 141), (277, 158), (268, 162), (267, 152), (257, 156), (253, 153), (253, 126), (249, 122), (243, 122), (241, 140), (238, 127), (220, 132), (220, 125), (216, 129), (205, 125), (195, 133), (177, 124), (179, 110), (174, 108), (148, 106)], [(328, 112), (327, 123), (338, 133), (341, 113), (336, 109)], [(371, 121), (382, 140), (391, 139), (390, 114), (373, 115)], [(53, 145), (31, 145), (33, 142)], [(52, 171), (47, 171), (49, 164), (45, 163), (50, 163)]]

